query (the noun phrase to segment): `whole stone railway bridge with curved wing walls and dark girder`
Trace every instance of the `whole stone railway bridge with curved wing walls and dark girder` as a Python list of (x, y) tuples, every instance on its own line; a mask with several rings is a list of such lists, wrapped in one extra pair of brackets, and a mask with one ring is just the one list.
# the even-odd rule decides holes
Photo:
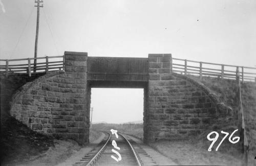
[(144, 142), (186, 139), (230, 109), (204, 85), (171, 73), (170, 54), (148, 58), (88, 57), (65, 52), (65, 72), (26, 83), (12, 97), (10, 114), (32, 130), (89, 142), (91, 88), (144, 89)]

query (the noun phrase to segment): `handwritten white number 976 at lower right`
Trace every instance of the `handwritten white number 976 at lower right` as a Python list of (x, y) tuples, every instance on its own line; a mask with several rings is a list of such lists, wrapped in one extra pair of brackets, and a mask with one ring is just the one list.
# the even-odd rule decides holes
[[(237, 129), (237, 130), (234, 130), (234, 131), (232, 132), (232, 134), (231, 134), (231, 135), (229, 136), (229, 138), (228, 138), (229, 142), (232, 143), (232, 144), (238, 143), (238, 141), (239, 141), (239, 139), (240, 139), (239, 136), (235, 136), (235, 137), (233, 137), (232, 140), (231, 140), (231, 137), (233, 136), (233, 134), (234, 134), (236, 131), (238, 131), (238, 129)], [(228, 136), (228, 134), (229, 134), (229, 133), (227, 133), (227, 132), (225, 132), (225, 131), (221, 131), (221, 133), (222, 133), (222, 134), (226, 134), (226, 135), (222, 138), (220, 144), (219, 144), (218, 147), (216, 148), (216, 151), (218, 151), (218, 149), (219, 149), (219, 147), (221, 146), (223, 140), (224, 140), (224, 139)], [(216, 136), (215, 136), (214, 138), (210, 138), (210, 136), (211, 136), (212, 134), (216, 134)], [(214, 146), (214, 144), (216, 143), (218, 137), (219, 137), (219, 133), (216, 132), (216, 131), (212, 131), (212, 132), (210, 132), (210, 133), (207, 135), (207, 139), (208, 139), (209, 141), (212, 141), (210, 147), (208, 148), (208, 151), (211, 151), (211, 148), (212, 148), (212, 146)]]

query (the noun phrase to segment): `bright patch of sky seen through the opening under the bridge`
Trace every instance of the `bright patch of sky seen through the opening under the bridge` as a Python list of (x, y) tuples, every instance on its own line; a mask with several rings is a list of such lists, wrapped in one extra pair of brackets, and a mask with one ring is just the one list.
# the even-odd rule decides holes
[(92, 122), (125, 123), (143, 120), (143, 89), (92, 88)]

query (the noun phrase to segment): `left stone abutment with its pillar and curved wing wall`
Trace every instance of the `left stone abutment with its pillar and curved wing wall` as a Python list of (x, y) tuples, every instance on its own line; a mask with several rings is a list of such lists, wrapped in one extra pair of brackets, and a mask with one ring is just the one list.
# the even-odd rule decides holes
[(15, 94), (11, 115), (34, 131), (88, 142), (86, 72), (87, 54), (65, 52), (65, 73), (51, 73), (27, 83)]

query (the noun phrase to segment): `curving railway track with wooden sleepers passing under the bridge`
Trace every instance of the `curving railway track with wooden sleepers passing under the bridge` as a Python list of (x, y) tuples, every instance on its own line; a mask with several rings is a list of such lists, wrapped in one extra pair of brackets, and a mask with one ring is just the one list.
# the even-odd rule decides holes
[[(91, 152), (86, 154), (82, 159), (73, 166), (82, 165), (156, 165), (156, 162), (133, 140), (127, 139), (123, 134), (115, 134), (104, 132), (105, 137), (101, 143)], [(112, 145), (112, 140), (116, 141), (117, 150)], [(112, 151), (116, 150), (121, 155), (121, 160), (116, 161), (111, 156), (118, 158), (118, 155)]]

